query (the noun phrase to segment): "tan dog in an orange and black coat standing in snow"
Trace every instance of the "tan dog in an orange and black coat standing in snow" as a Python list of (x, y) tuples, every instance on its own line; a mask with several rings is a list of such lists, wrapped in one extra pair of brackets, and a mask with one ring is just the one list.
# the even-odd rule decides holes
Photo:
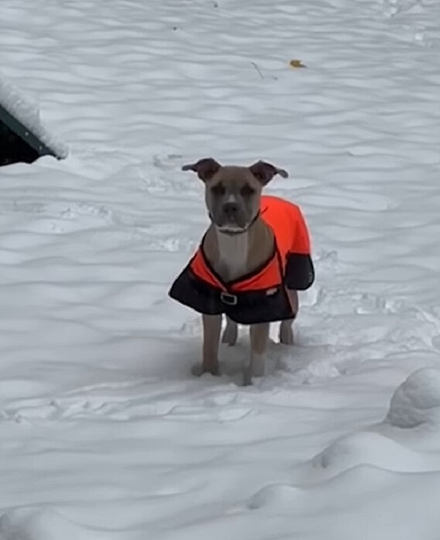
[(294, 343), (297, 291), (315, 280), (306, 221), (296, 204), (262, 195), (275, 175), (288, 177), (270, 163), (222, 166), (205, 158), (182, 170), (194, 171), (205, 184), (210, 226), (168, 294), (202, 314), (200, 374), (219, 374), (222, 314), (227, 317), (222, 336), (227, 345), (237, 342), (238, 324), (250, 326), (246, 386), (264, 375), (270, 322), (281, 321), (281, 343)]

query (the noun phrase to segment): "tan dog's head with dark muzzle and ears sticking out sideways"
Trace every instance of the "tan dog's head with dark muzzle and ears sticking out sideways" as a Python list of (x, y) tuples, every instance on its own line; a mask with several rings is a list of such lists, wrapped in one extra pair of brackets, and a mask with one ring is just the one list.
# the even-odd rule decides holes
[(184, 165), (182, 171), (196, 172), (205, 183), (211, 221), (220, 231), (231, 234), (245, 231), (256, 219), (263, 186), (276, 174), (288, 176), (282, 168), (265, 161), (257, 161), (250, 167), (221, 166), (212, 158)]

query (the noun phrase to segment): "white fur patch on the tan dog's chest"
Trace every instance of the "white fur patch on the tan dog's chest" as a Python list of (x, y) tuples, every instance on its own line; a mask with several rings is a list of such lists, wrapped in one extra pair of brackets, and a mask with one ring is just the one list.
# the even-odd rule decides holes
[(233, 281), (248, 273), (249, 238), (247, 234), (218, 233), (218, 260), (215, 270), (224, 281)]

